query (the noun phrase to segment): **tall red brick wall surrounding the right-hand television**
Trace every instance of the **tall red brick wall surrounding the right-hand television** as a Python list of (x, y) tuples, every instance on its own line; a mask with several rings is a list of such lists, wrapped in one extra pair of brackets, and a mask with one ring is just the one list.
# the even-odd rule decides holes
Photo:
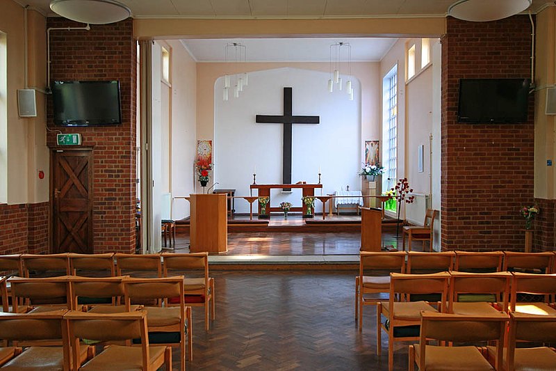
[(527, 123), (457, 123), (459, 79), (531, 75), (531, 25), (447, 18), (442, 39), (441, 210), (443, 250), (523, 250), (519, 207), (532, 205), (534, 118)]

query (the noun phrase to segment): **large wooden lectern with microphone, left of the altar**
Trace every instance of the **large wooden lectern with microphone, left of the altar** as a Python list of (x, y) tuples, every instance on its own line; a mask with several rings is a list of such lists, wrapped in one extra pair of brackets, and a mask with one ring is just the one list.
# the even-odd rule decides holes
[(190, 252), (228, 251), (226, 194), (191, 194)]

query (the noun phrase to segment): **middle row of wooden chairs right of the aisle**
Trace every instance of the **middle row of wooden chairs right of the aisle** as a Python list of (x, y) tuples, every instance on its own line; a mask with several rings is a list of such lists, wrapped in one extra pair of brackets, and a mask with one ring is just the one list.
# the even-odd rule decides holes
[[(377, 302), (377, 354), (382, 352), (384, 329), (389, 337), (389, 370), (393, 369), (394, 342), (418, 339), (421, 311), (468, 317), (507, 317), (513, 312), (556, 317), (556, 274), (391, 273), (390, 281), (388, 301)], [(516, 298), (520, 292), (543, 295), (544, 300), (519, 303)]]

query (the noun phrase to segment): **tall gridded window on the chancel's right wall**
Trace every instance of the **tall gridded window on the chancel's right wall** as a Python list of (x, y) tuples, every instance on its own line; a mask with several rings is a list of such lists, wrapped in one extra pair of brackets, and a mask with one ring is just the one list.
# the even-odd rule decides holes
[(382, 190), (394, 187), (398, 164), (398, 65), (382, 79)]

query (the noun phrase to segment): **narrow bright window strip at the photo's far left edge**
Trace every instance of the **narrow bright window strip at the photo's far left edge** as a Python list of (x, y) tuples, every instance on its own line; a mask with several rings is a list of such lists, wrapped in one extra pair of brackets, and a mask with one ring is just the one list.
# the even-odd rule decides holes
[(8, 58), (0, 31), (0, 203), (8, 203)]

